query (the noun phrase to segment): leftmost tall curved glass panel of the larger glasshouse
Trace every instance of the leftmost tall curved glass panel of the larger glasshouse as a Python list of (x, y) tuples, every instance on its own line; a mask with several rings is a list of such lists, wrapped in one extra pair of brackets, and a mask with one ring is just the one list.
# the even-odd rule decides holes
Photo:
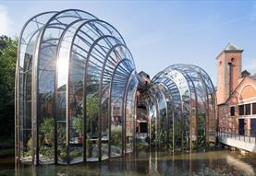
[[(19, 55), (18, 55), (18, 123), (19, 133), (18, 144), (20, 151), (20, 158), (24, 161), (32, 160), (33, 146), (36, 148), (36, 128), (31, 132), (31, 74), (32, 62), (35, 52), (35, 44), (37, 38), (43, 28), (45, 22), (50, 18), (54, 12), (43, 13), (34, 18), (24, 27), (19, 39)], [(36, 119), (33, 120), (35, 125)], [(34, 156), (35, 157), (35, 156)], [(36, 159), (36, 158), (35, 158)]]

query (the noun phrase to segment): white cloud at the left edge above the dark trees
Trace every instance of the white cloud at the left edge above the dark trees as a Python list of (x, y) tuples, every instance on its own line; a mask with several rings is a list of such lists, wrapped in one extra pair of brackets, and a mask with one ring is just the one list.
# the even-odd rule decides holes
[(0, 6), (0, 35), (10, 35), (11, 21), (8, 18), (6, 6)]

